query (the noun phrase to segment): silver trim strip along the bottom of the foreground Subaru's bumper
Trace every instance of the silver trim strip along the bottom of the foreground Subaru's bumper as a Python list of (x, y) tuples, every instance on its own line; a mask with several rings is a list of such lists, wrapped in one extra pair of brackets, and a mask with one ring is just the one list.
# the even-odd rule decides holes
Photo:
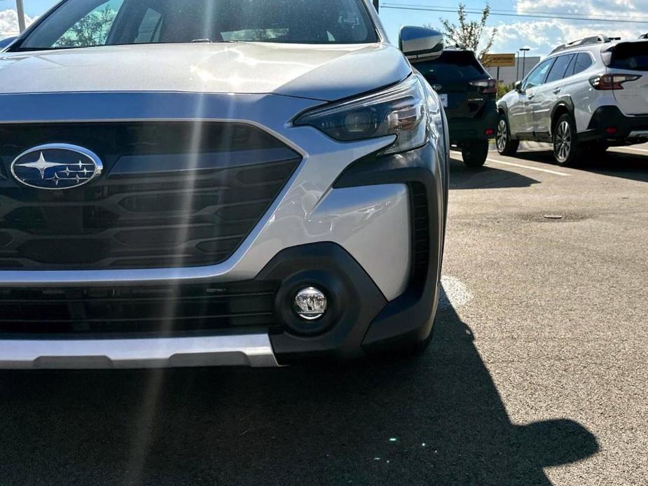
[(0, 340), (0, 369), (276, 367), (268, 334), (199, 338)]

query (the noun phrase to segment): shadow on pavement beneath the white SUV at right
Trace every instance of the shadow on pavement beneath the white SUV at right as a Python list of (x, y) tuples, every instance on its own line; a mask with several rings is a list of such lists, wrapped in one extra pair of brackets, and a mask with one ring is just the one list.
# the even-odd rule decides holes
[[(555, 165), (551, 151), (521, 151), (516, 154), (521, 160)], [(605, 176), (621, 177), (633, 181), (648, 182), (648, 153), (621, 153), (610, 149), (598, 158), (588, 158), (574, 169), (594, 172)]]

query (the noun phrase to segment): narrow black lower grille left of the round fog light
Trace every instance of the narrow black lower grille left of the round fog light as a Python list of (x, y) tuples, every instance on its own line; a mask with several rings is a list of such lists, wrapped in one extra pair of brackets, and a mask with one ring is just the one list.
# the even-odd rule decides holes
[(275, 325), (277, 282), (0, 289), (0, 334), (179, 335)]

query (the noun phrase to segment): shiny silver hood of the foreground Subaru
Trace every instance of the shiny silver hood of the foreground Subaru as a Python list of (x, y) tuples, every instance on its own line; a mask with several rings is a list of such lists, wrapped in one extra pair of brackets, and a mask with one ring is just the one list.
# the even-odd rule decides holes
[(274, 93), (333, 101), (411, 73), (394, 46), (193, 43), (0, 55), (0, 93)]

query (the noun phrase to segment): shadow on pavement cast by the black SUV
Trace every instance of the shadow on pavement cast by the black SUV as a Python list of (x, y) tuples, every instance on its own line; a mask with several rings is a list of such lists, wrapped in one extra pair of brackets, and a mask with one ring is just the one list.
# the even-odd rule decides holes
[(469, 169), (461, 160), (450, 160), (450, 190), (522, 188), (537, 183), (539, 181), (516, 172), (488, 166)]

